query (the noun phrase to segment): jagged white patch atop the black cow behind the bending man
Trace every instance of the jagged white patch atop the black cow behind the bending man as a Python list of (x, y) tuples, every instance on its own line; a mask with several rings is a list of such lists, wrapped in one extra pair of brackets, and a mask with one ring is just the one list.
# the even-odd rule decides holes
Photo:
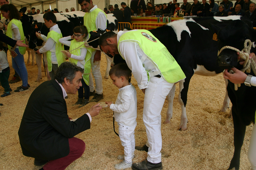
[[(171, 26), (173, 28), (173, 30), (175, 31), (175, 33), (177, 35), (178, 42), (180, 42), (180, 40), (181, 40), (181, 32), (182, 31), (187, 31), (189, 33), (189, 36), (191, 34), (191, 32), (190, 32), (190, 30), (189, 30), (189, 28), (188, 28), (188, 26), (186, 24), (187, 22), (194, 22), (194, 23), (196, 23), (195, 20), (193, 20), (192, 18), (189, 18), (189, 19), (176, 20), (176, 21), (173, 21), (173, 22), (167, 24), (167, 26)], [(205, 28), (205, 27), (201, 26), (200, 24), (198, 24), (198, 25), (203, 30), (209, 30), (208, 28)]]

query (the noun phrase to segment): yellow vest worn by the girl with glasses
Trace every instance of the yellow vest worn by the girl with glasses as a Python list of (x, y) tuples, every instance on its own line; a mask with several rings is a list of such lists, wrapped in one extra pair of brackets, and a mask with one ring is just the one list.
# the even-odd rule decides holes
[[(84, 65), (84, 73), (83, 73), (83, 80), (84, 82), (89, 85), (89, 75), (91, 73), (91, 48), (87, 48), (83, 45), (84, 42), (77, 42), (75, 39), (71, 41), (70, 47), (69, 47), (69, 51), (71, 54), (74, 55), (81, 55), (81, 49), (86, 48), (87, 49), (87, 53), (85, 55), (84, 61), (79, 61), (80, 63), (82, 63)], [(81, 46), (82, 45), (82, 46)], [(81, 46), (81, 47), (79, 47)], [(78, 48), (78, 49), (76, 49)], [(76, 49), (76, 50), (73, 50)], [(73, 51), (71, 51), (73, 50)], [(68, 58), (70, 62), (75, 63), (77, 65), (78, 60), (74, 59), (74, 58)]]

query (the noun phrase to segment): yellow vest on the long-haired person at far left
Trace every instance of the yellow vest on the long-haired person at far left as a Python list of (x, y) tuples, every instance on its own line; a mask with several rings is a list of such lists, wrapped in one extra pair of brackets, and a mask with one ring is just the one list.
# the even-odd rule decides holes
[[(25, 36), (22, 28), (22, 23), (20, 22), (20, 20), (17, 20), (17, 19), (10, 20), (7, 26), (6, 35), (12, 38), (12, 23), (14, 23), (19, 28), (20, 40), (24, 40), (23, 43), (25, 44)], [(8, 49), (11, 49), (11, 46), (8, 45)], [(20, 54), (24, 55), (26, 53), (26, 47), (19, 47), (19, 52)]]

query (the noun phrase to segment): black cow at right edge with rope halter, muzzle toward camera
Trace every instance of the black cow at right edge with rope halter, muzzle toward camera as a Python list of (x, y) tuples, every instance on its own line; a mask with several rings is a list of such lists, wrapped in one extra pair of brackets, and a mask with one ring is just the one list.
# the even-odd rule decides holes
[[(244, 49), (244, 42), (246, 39), (250, 39), (252, 42), (255, 42), (256, 40), (256, 30), (248, 27), (248, 25), (241, 20), (232, 21), (222, 29), (216, 25), (212, 25), (212, 30), (218, 34), (218, 50), (224, 46), (231, 46), (241, 51)], [(255, 53), (255, 48), (252, 48), (251, 52)], [(243, 67), (237, 62), (237, 52), (230, 49), (224, 49), (219, 54), (217, 61), (218, 65), (223, 69), (236, 67), (237, 69), (241, 70)], [(251, 73), (246, 74), (255, 76), (252, 69)], [(227, 93), (231, 103), (233, 104), (232, 115), (234, 122), (235, 147), (229, 169), (238, 170), (240, 166), (240, 152), (244, 142), (246, 126), (250, 125), (251, 123), (255, 124), (256, 87), (249, 87), (245, 84), (241, 84), (241, 86), (235, 90), (234, 84), (229, 81)]]

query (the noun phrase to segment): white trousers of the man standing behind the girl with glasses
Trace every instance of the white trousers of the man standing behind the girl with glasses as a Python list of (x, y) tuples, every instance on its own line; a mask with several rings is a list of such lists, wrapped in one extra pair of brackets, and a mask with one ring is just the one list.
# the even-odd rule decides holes
[[(91, 70), (93, 72), (93, 76), (90, 74), (89, 75), (89, 87), (90, 87), (90, 92), (93, 92), (95, 89), (95, 92), (97, 94), (102, 94), (103, 93), (103, 86), (102, 86), (102, 76), (101, 76), (101, 61), (95, 61), (93, 63), (94, 55), (97, 50), (93, 51), (91, 54)], [(95, 79), (95, 88), (93, 84), (93, 77)]]

